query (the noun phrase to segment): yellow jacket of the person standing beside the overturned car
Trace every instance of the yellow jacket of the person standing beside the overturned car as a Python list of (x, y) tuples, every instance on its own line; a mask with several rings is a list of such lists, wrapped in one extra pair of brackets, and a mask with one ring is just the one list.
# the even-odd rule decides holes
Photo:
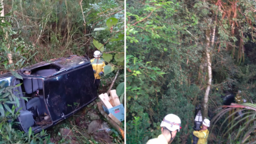
[(92, 68), (94, 70), (96, 70), (94, 77), (96, 79), (100, 79), (99, 73), (104, 72), (104, 66), (106, 66), (105, 62), (103, 60), (101, 60), (100, 58), (98, 59), (98, 62), (97, 62), (97, 58), (93, 58), (93, 59), (91, 59), (91, 63), (92, 63)]

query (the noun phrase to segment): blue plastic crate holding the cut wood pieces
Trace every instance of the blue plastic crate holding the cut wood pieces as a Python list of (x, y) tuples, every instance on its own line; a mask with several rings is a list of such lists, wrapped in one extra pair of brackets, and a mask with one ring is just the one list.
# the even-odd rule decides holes
[(113, 108), (105, 108), (104, 106), (102, 106), (104, 111), (107, 114), (113, 114), (118, 120), (120, 120), (120, 122), (122, 122), (124, 120), (124, 105), (120, 104), (118, 106), (115, 106)]

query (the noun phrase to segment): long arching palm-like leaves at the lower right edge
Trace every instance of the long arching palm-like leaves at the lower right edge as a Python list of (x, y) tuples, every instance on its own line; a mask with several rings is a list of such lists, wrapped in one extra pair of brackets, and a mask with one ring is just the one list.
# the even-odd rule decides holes
[[(221, 107), (223, 108), (223, 110), (221, 110), (218, 114), (216, 114), (216, 116), (214, 116), (214, 118), (212, 118), (212, 122), (214, 124), (210, 130), (210, 133), (212, 133), (214, 126), (222, 118), (222, 116), (232, 110), (240, 109), (239, 111), (243, 112), (242, 117), (240, 115), (235, 116), (238, 113), (238, 110), (233, 111), (229, 116), (224, 119), (220, 127), (218, 127), (218, 136), (220, 136), (220, 134), (222, 137), (227, 136), (227, 139), (230, 139), (232, 141), (239, 141), (241, 144), (256, 144), (254, 140), (256, 136), (251, 136), (251, 133), (253, 133), (256, 129), (256, 125), (254, 125), (253, 123), (254, 121), (256, 121), (256, 104), (232, 103), (230, 106)], [(230, 118), (232, 118), (232, 120), (228, 122), (228, 124), (226, 124), (226, 122)], [(236, 129), (234, 130), (234, 128)]]

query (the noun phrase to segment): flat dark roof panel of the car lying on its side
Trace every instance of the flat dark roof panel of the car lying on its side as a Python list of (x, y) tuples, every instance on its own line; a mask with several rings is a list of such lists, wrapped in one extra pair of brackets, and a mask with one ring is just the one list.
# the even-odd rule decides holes
[(44, 80), (44, 96), (52, 120), (73, 114), (97, 98), (91, 64)]

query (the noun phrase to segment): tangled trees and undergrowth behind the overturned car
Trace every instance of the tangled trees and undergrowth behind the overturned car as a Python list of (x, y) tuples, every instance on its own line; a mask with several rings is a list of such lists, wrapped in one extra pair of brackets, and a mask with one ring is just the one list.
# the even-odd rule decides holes
[[(0, 38), (1, 70), (22, 68), (74, 54), (93, 58), (93, 52), (97, 50), (93, 39), (104, 43), (104, 52), (124, 52), (124, 40), (118, 39), (120, 34), (124, 34), (124, 2), (80, 2), (6, 1), (4, 11), (10, 13), (10, 16), (6, 17), (10, 25), (7, 29), (7, 39), (4, 35)], [(110, 18), (118, 20), (112, 30), (95, 30), (98, 27), (108, 28), (106, 21)], [(118, 41), (112, 41), (113, 38)], [(12, 54), (13, 64), (8, 65), (8, 57), (4, 55), (6, 53)], [(110, 54), (115, 56), (115, 53)], [(111, 63), (118, 65), (114, 59)]]

